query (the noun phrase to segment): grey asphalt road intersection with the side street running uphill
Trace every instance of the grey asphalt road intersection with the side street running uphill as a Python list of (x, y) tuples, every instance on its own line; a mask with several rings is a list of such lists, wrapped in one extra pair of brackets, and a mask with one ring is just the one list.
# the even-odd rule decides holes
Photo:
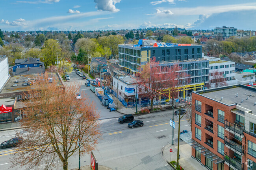
[[(71, 82), (84, 82), (76, 73), (72, 72)], [(143, 127), (129, 129), (128, 123), (119, 124), (116, 117), (121, 117), (118, 112), (109, 112), (91, 90), (88, 90), (83, 83), (81, 92), (84, 91), (91, 101), (95, 102), (100, 112), (100, 124), (102, 137), (98, 141), (97, 148), (93, 151), (98, 165), (108, 166), (113, 170), (169, 170), (169, 165), (161, 158), (161, 148), (166, 144), (172, 143), (172, 128), (169, 119), (172, 117), (170, 111), (150, 113), (147, 115), (135, 115), (135, 120), (144, 122)], [(175, 120), (177, 121), (177, 119)], [(182, 119), (180, 130), (190, 130), (187, 121)], [(15, 131), (0, 132), (0, 143), (10, 139), (15, 135)], [(178, 141), (178, 123), (174, 129), (174, 145)], [(180, 140), (180, 145), (185, 144)], [(25, 167), (10, 168), (8, 162), (14, 148), (0, 150), (0, 169), (23, 170)], [(61, 170), (61, 164), (57, 162)], [(81, 166), (90, 164), (89, 154), (81, 157)], [(69, 169), (78, 167), (78, 153), (69, 158)]]

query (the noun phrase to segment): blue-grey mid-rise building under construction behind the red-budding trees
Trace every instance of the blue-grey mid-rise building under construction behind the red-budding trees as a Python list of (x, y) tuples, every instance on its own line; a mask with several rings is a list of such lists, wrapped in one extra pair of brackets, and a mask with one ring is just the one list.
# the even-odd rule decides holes
[[(152, 58), (162, 67), (178, 64), (186, 71), (187, 80), (182, 80), (179, 97), (188, 97), (209, 83), (209, 61), (202, 58), (202, 46), (193, 44), (157, 43), (154, 40), (139, 40), (138, 44), (119, 45), (119, 66), (130, 74), (141, 73)], [(208, 85), (207, 85), (208, 86)], [(169, 94), (169, 92), (166, 92)]]

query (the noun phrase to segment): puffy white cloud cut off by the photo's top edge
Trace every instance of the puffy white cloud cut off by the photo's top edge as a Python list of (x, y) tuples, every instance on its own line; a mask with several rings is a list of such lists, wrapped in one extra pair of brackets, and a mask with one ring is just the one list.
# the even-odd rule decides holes
[(115, 7), (115, 4), (120, 1), (121, 0), (94, 0), (94, 3), (96, 3), (96, 8), (98, 10), (118, 12), (120, 10)]

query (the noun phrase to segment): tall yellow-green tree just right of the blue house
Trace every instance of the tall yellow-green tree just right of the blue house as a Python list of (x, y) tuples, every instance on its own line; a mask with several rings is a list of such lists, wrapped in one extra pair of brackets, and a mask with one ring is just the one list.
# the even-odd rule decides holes
[(45, 41), (45, 45), (42, 48), (43, 62), (45, 67), (56, 65), (57, 57), (60, 53), (59, 44), (57, 40), (49, 39)]

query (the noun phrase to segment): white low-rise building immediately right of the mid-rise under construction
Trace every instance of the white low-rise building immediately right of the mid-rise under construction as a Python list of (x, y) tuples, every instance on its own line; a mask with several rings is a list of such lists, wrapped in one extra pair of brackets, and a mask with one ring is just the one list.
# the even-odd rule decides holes
[(204, 58), (209, 60), (209, 79), (211, 88), (237, 84), (235, 78), (235, 62), (224, 61), (215, 57), (204, 56)]

